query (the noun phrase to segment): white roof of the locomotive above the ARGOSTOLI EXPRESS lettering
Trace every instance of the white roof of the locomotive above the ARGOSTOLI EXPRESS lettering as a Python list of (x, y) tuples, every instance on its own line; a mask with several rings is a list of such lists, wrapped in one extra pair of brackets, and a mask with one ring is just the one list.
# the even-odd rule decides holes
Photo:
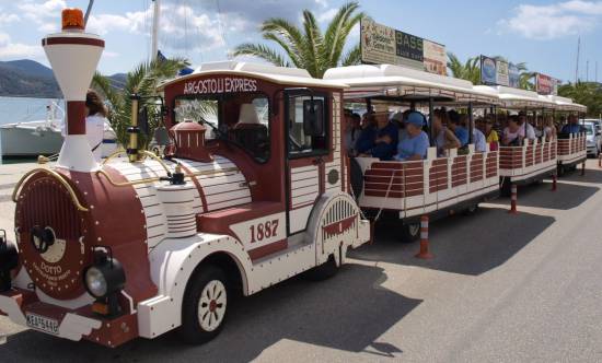
[(207, 62), (200, 65), (190, 74), (178, 77), (166, 81), (159, 86), (159, 90), (163, 90), (166, 86), (180, 83), (182, 81), (194, 79), (199, 75), (216, 75), (216, 74), (229, 74), (229, 75), (244, 75), (262, 79), (268, 82), (274, 82), (282, 85), (292, 86), (315, 86), (326, 89), (345, 89), (347, 84), (337, 82), (315, 79), (304, 69), (276, 67), (265, 63), (254, 62), (239, 62), (239, 61), (217, 61)]

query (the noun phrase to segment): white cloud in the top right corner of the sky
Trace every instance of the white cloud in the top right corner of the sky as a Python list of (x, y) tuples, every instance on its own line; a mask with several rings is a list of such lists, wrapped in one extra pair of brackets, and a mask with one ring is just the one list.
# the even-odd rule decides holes
[(520, 4), (514, 15), (498, 21), (501, 33), (549, 40), (593, 30), (602, 20), (602, 1), (571, 0), (548, 5)]

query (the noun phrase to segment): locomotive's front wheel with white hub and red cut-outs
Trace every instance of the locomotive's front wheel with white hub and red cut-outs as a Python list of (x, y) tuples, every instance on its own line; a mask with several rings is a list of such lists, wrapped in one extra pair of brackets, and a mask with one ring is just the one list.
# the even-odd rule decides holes
[(223, 271), (207, 266), (190, 278), (182, 305), (182, 340), (205, 343), (219, 335), (228, 308), (228, 280)]

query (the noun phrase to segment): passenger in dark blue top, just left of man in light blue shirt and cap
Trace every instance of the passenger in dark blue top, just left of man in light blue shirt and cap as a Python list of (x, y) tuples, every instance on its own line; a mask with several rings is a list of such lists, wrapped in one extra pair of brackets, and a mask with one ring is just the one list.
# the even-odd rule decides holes
[(389, 120), (387, 112), (373, 114), (373, 117), (377, 126), (362, 131), (358, 140), (358, 152), (380, 160), (391, 160), (397, 147), (397, 126)]

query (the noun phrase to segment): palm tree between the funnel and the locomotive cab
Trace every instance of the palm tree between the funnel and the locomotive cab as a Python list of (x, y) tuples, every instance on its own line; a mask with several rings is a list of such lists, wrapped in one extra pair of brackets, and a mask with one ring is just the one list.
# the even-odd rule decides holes
[(174, 78), (177, 72), (189, 62), (185, 59), (157, 59), (146, 61), (126, 75), (126, 82), (121, 90), (116, 90), (111, 84), (111, 79), (96, 72), (92, 80), (92, 87), (100, 92), (108, 103), (108, 121), (115, 130), (117, 141), (126, 145), (128, 141), (127, 128), (131, 122), (131, 101), (129, 96), (134, 93), (139, 94), (142, 99), (140, 109), (147, 107), (149, 130), (147, 134), (140, 136), (140, 148), (146, 149), (152, 139), (157, 127), (161, 124), (161, 107), (157, 105), (157, 86), (162, 80)]

